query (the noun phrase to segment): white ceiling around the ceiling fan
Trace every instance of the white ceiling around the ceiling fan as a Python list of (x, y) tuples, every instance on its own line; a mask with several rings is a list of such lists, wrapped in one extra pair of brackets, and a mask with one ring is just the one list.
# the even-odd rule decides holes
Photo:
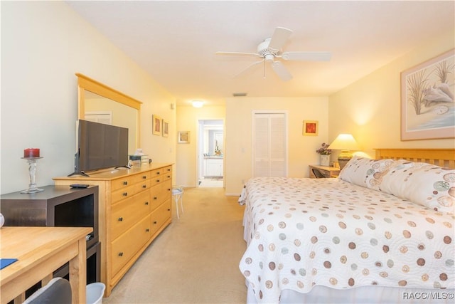
[[(455, 1), (68, 1), (177, 98), (222, 104), (249, 97), (326, 96), (455, 26)], [(284, 51), (330, 51), (331, 61), (283, 61), (284, 82), (262, 65), (240, 73), (274, 28)], [(266, 65), (267, 67), (267, 65)], [(234, 77), (237, 75), (237, 77)]]

